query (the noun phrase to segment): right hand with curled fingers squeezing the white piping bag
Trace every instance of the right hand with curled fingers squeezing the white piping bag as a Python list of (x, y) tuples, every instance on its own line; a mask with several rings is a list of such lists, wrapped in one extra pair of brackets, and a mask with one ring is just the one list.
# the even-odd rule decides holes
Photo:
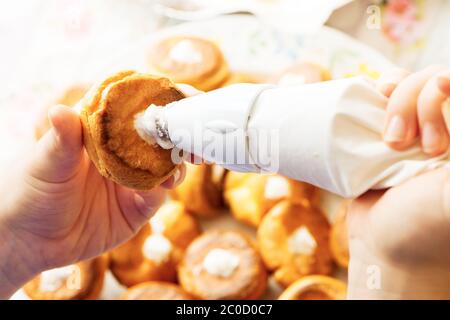
[[(446, 152), (441, 112), (450, 69), (429, 67), (380, 79), (389, 98), (384, 139), (404, 149), (420, 137), (430, 156)], [(348, 215), (349, 298), (450, 298), (450, 170), (438, 169), (353, 201)]]

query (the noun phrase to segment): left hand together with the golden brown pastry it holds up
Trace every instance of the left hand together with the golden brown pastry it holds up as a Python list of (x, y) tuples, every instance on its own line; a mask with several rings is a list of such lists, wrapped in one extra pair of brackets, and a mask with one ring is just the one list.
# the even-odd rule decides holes
[(182, 97), (168, 80), (123, 72), (90, 90), (82, 121), (68, 107), (49, 111), (51, 129), (3, 173), (0, 298), (44, 270), (117, 246), (147, 222), (164, 199), (163, 187), (173, 186), (177, 166), (166, 150), (139, 141), (130, 122), (153, 102)]

